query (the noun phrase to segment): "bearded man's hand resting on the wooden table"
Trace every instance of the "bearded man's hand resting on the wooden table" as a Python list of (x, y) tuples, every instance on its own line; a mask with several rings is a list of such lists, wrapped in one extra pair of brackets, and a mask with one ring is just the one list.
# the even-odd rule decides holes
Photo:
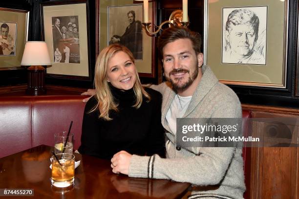
[(128, 175), (128, 167), (130, 165), (132, 155), (126, 151), (120, 151), (111, 158), (112, 172), (115, 174), (122, 173)]

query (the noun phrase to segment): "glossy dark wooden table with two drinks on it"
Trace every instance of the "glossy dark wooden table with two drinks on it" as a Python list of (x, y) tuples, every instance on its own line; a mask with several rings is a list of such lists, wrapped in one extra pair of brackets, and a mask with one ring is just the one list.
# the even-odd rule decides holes
[(18, 199), (175, 199), (190, 187), (189, 183), (171, 180), (117, 175), (112, 173), (110, 161), (75, 154), (81, 164), (75, 170), (74, 186), (56, 188), (51, 186), (49, 168), (52, 150), (41, 145), (0, 158), (0, 189), (34, 189), (34, 197)]

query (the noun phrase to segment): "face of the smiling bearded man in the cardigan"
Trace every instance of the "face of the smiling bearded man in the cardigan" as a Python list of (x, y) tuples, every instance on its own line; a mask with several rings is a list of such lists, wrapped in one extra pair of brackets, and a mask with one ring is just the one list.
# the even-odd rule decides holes
[(203, 64), (203, 54), (196, 55), (190, 39), (178, 39), (163, 48), (164, 74), (176, 90), (192, 85)]

